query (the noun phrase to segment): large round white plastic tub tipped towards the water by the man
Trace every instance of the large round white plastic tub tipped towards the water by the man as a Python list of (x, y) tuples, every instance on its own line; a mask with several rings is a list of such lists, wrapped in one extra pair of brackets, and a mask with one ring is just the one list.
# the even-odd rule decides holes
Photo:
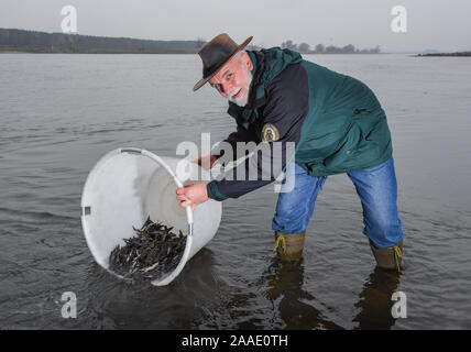
[[(186, 167), (187, 178), (176, 177), (177, 164)], [(194, 163), (175, 157), (160, 157), (146, 150), (117, 148), (106, 154), (90, 170), (81, 195), (81, 226), (94, 258), (108, 272), (109, 256), (124, 239), (134, 235), (147, 217), (187, 233), (186, 246), (177, 267), (155, 286), (169, 284), (185, 264), (216, 234), (221, 220), (221, 202), (212, 199), (183, 209), (175, 190), (188, 178), (198, 179), (207, 172)]]

